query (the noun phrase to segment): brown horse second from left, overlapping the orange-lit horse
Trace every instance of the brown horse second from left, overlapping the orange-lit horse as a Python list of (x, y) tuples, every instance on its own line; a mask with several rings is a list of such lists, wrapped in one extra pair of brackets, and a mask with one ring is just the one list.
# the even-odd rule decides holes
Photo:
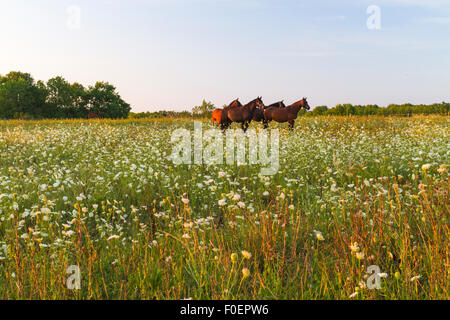
[(233, 122), (241, 123), (242, 130), (247, 131), (253, 113), (257, 108), (264, 108), (262, 97), (250, 101), (245, 106), (227, 107), (222, 111), (220, 126), (222, 130), (226, 130)]

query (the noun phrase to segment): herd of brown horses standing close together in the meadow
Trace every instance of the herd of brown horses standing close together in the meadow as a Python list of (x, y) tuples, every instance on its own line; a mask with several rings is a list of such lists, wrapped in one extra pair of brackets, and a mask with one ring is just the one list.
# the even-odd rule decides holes
[(265, 106), (262, 97), (258, 97), (246, 105), (242, 105), (239, 99), (236, 99), (228, 107), (214, 110), (212, 120), (213, 123), (220, 125), (220, 128), (224, 131), (233, 122), (237, 122), (241, 124), (242, 130), (246, 132), (252, 121), (262, 122), (265, 129), (269, 127), (271, 121), (279, 123), (288, 122), (289, 129), (293, 130), (295, 120), (302, 108), (310, 110), (306, 98), (290, 106), (286, 106), (283, 101)]

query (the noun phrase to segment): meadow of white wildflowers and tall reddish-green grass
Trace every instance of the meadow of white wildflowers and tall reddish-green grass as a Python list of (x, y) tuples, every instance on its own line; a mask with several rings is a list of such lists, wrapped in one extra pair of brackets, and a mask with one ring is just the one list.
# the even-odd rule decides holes
[(0, 122), (0, 298), (447, 299), (449, 123), (303, 118), (265, 177), (175, 166), (188, 120)]

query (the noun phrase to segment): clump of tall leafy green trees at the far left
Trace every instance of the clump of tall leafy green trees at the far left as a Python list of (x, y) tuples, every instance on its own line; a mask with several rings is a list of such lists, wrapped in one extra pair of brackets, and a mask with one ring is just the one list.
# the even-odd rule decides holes
[(127, 118), (131, 107), (108, 82), (85, 88), (63, 77), (35, 81), (29, 73), (0, 75), (0, 119)]

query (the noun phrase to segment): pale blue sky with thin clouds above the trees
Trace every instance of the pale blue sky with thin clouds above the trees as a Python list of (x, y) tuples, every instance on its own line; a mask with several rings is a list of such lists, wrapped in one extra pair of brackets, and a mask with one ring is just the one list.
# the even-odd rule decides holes
[(10, 71), (108, 81), (134, 112), (450, 101), (450, 0), (0, 0)]

